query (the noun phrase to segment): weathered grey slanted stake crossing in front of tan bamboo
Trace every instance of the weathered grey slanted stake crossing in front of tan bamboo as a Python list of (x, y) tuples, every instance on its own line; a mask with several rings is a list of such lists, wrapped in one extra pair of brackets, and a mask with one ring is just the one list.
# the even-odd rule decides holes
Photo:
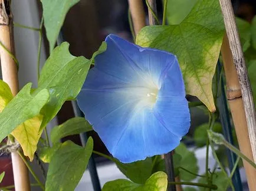
[[(248, 79), (248, 72), (245, 65), (244, 54), (242, 52), (239, 40), (237, 25), (235, 24), (235, 15), (230, 0), (219, 0), (224, 23), (227, 31), (229, 48), (233, 58), (233, 65), (237, 69), (238, 81), (241, 86), (242, 101), (244, 102), (247, 128), (251, 141), (251, 150), (254, 162), (256, 162), (256, 112), (252, 98), (251, 84)], [(245, 140), (244, 140), (245, 141)]]

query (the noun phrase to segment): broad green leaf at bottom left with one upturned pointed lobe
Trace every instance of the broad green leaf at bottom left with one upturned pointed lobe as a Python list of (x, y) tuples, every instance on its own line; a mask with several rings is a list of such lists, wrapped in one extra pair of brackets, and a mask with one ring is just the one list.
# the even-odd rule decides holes
[(74, 190), (86, 170), (92, 152), (92, 138), (88, 139), (85, 148), (71, 141), (64, 142), (51, 158), (45, 191)]

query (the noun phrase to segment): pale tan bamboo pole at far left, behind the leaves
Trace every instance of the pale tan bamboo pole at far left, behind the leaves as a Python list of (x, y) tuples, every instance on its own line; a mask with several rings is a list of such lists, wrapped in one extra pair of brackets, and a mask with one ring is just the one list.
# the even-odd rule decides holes
[[(0, 0), (0, 42), (14, 54), (13, 21), (9, 7), (9, 1)], [(2, 67), (2, 78), (8, 83), (12, 94), (18, 93), (18, 72), (17, 64), (9, 53), (1, 46), (0, 59)], [(29, 191), (28, 169), (17, 152), (12, 152), (12, 169), (14, 172), (14, 183), (16, 191)]]

